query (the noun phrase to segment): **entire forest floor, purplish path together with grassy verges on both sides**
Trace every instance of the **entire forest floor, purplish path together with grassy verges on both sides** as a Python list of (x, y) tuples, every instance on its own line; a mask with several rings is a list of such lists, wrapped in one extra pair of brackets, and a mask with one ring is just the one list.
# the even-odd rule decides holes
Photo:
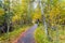
[[(52, 42), (48, 40), (43, 25), (35, 24), (10, 32), (9, 41), (6, 34), (2, 35), (0, 43), (56, 43), (56, 31), (51, 30), (50, 35)], [(58, 43), (65, 43), (65, 30), (62, 30), (62, 27), (58, 27)]]

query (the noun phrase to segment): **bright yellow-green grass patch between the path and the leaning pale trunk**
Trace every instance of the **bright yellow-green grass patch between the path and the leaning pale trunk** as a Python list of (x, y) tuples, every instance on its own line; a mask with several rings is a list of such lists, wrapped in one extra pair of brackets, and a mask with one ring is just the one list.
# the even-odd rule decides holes
[(42, 26), (39, 26), (35, 31), (35, 39), (37, 43), (49, 43), (48, 38), (42, 29)]

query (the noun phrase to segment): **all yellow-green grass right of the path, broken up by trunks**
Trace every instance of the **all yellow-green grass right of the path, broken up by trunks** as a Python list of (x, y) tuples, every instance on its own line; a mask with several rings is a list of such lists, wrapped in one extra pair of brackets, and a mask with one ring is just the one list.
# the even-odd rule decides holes
[[(50, 35), (52, 38), (52, 42), (48, 40), (48, 37), (46, 35), (44, 28), (42, 25), (40, 25), (36, 31), (35, 31), (35, 39), (37, 43), (56, 43), (56, 31), (50, 30)], [(58, 43), (65, 43), (65, 30), (63, 30), (63, 27), (58, 27)]]

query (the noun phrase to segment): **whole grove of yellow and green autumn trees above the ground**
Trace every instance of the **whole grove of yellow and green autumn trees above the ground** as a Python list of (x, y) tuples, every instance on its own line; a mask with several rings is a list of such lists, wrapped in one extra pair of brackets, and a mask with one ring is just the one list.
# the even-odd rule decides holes
[(56, 26), (65, 26), (65, 1), (0, 0), (0, 33), (12, 31), (17, 26), (34, 24), (37, 20), (44, 25), (48, 35), (49, 28), (56, 29)]

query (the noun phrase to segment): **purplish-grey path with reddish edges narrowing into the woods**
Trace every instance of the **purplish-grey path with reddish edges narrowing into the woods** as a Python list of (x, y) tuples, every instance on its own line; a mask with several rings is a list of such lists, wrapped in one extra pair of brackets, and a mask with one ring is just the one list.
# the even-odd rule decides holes
[(24, 32), (17, 43), (36, 43), (34, 38), (34, 31), (36, 30), (36, 28), (37, 24), (35, 24), (32, 27), (29, 28), (29, 30)]

